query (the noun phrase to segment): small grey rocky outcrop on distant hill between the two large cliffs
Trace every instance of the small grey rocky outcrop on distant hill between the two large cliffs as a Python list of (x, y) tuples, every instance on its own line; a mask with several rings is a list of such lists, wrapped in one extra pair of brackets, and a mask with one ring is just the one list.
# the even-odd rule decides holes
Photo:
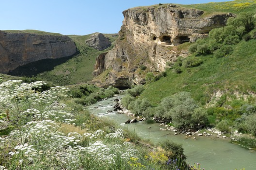
[(111, 42), (102, 33), (95, 33), (85, 40), (86, 45), (99, 51), (105, 50), (111, 46)]

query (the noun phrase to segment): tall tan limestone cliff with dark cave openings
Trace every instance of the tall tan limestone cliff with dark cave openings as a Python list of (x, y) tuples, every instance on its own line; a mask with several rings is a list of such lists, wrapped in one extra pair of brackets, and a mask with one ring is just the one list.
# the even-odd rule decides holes
[(125, 18), (116, 46), (105, 54), (104, 59), (98, 58), (104, 60), (101, 61), (104, 66), (96, 66), (94, 74), (99, 74), (102, 69), (113, 70), (105, 83), (98, 83), (115, 85), (123, 78), (136, 84), (143, 82), (143, 75), (137, 71), (140, 65), (147, 66), (148, 71), (163, 71), (167, 61), (188, 55), (177, 45), (207, 37), (212, 28), (225, 26), (227, 19), (234, 17), (233, 14), (203, 17), (203, 14), (204, 11), (198, 9), (172, 4), (123, 11)]

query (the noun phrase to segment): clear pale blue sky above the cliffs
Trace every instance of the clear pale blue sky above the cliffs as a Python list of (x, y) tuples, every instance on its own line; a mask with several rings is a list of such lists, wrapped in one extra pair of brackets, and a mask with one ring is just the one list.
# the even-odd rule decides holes
[(1, 0), (0, 30), (35, 29), (64, 35), (118, 33), (122, 11), (128, 8), (221, 1), (227, 0)]

